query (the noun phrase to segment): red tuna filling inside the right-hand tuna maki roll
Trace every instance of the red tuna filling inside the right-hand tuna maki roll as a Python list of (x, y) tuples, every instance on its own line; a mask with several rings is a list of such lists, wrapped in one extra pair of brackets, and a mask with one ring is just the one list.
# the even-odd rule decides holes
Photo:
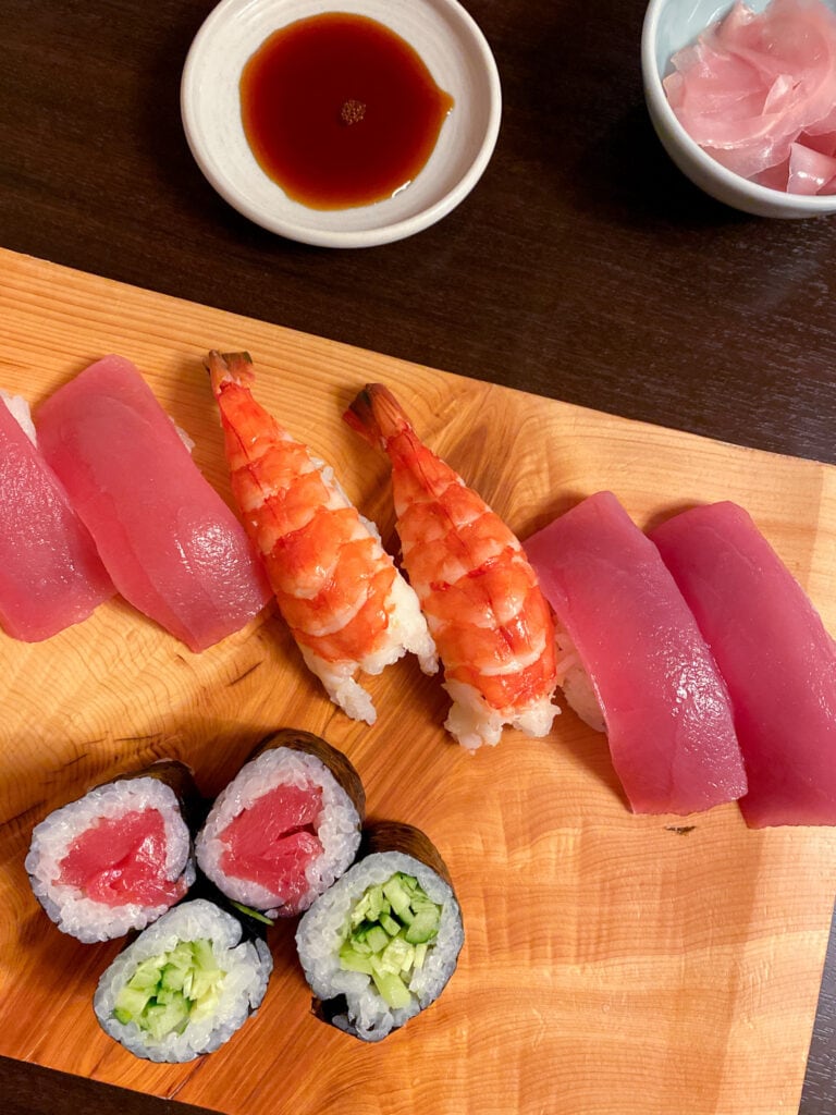
[(275, 894), (290, 912), (310, 886), (305, 867), (322, 854), (315, 834), (321, 812), (319, 786), (276, 786), (218, 834), (226, 845), (221, 867)]

